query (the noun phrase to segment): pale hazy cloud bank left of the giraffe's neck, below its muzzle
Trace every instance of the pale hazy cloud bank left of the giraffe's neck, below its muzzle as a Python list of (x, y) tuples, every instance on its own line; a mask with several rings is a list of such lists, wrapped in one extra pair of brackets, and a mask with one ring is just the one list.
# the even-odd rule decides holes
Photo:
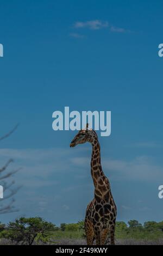
[(15, 175), (16, 184), (23, 187), (48, 187), (59, 184), (60, 180), (54, 177), (55, 173), (73, 172), (73, 156), (87, 148), (47, 148), (47, 149), (0, 149), (0, 167), (14, 159), (6, 172), (21, 167)]

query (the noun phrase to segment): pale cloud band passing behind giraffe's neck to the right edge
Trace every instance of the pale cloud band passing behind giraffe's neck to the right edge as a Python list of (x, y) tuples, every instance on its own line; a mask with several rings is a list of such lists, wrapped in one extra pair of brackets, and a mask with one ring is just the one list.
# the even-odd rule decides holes
[[(73, 157), (74, 166), (87, 166), (88, 157)], [(133, 160), (102, 159), (104, 173), (112, 179), (121, 180), (160, 180), (163, 179), (163, 167), (147, 156), (135, 157)]]

